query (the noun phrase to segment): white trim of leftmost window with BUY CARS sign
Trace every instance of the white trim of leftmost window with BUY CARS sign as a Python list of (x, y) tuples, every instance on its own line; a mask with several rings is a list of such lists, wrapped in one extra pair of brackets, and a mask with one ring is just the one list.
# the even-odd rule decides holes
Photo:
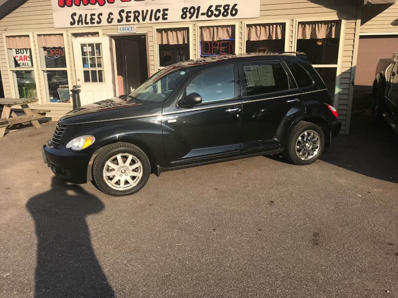
[[(33, 71), (33, 76), (35, 80), (35, 85), (36, 85), (36, 94), (37, 94), (37, 100), (40, 102), (41, 99), (41, 90), (40, 90), (40, 84), (39, 84), (39, 77), (38, 77), (38, 69), (37, 69), (37, 64), (36, 62), (36, 55), (35, 55), (35, 48), (33, 45), (33, 33), (32, 32), (14, 32), (14, 33), (3, 33), (3, 44), (4, 44), (4, 49), (5, 49), (5, 58), (7, 60), (7, 71), (8, 71), (8, 78), (9, 78), (9, 83), (10, 83), (10, 88), (11, 88), (11, 96), (13, 98), (17, 98), (16, 96), (16, 91), (15, 91), (15, 84), (16, 82), (14, 81), (14, 76), (13, 72), (15, 71), (20, 71), (20, 70), (25, 70), (25, 71)], [(8, 50), (6, 46), (6, 38), (9, 36), (29, 36), (29, 42), (30, 42), (30, 51), (33, 59), (33, 66), (32, 67), (26, 67), (22, 69), (17, 69), (15, 67), (10, 67), (9, 65), (9, 55), (8, 55)], [(5, 93), (5, 90), (4, 90)], [(6, 96), (4, 94), (4, 96)]]

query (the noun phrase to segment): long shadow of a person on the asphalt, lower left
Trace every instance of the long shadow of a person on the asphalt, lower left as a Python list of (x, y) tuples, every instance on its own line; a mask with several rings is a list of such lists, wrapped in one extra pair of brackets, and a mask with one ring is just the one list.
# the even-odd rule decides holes
[(100, 199), (54, 177), (51, 190), (29, 199), (26, 208), (37, 236), (34, 297), (115, 297), (86, 221), (104, 209)]

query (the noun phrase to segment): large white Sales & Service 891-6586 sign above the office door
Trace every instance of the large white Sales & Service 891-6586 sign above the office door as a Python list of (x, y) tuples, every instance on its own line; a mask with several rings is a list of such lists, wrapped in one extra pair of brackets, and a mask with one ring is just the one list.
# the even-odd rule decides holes
[(51, 0), (56, 28), (252, 18), (260, 0)]

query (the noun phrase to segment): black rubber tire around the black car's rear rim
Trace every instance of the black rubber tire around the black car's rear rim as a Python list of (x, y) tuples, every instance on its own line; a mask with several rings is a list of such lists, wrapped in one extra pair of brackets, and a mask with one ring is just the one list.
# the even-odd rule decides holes
[[(314, 156), (311, 157), (310, 159), (303, 160), (298, 156), (298, 153), (296, 152), (296, 146), (299, 143), (298, 138), (304, 132), (306, 132), (308, 130), (314, 131), (318, 134), (319, 142), (316, 142), (317, 145), (315, 145), (315, 146), (318, 146), (317, 151), (316, 152), (315, 152), (315, 150), (312, 151), (314, 153)], [(301, 144), (301, 143), (299, 143), (299, 144)], [(312, 144), (312, 141), (311, 141), (311, 144)], [(313, 145), (311, 145), (311, 147), (312, 146)], [(296, 124), (296, 126), (290, 132), (290, 135), (288, 137), (287, 146), (285, 149), (285, 157), (291, 163), (293, 163), (295, 165), (300, 165), (300, 166), (309, 165), (309, 164), (312, 164), (313, 162), (315, 162), (321, 156), (324, 146), (325, 146), (325, 136), (323, 134), (322, 129), (314, 123), (300, 121)], [(313, 148), (315, 148), (315, 147), (313, 147)]]

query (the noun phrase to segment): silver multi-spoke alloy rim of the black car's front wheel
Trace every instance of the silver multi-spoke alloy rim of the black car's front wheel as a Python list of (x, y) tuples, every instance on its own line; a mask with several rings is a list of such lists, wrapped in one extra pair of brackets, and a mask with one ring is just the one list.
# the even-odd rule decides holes
[(142, 164), (138, 158), (129, 153), (120, 153), (108, 159), (102, 175), (110, 188), (127, 191), (140, 182), (142, 171)]

